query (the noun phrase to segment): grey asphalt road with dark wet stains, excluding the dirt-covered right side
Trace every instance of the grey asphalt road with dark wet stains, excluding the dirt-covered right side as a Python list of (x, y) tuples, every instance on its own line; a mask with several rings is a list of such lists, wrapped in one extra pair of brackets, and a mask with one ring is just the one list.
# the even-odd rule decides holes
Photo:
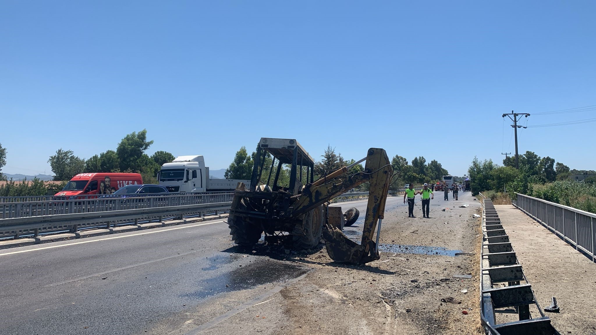
[[(364, 221), (367, 201), (337, 205), (358, 208)], [(404, 206), (390, 197), (386, 211), (407, 216)], [(306, 272), (248, 256), (231, 243), (224, 221), (0, 250), (0, 334), (175, 333), (191, 308), (206, 311), (208, 322), (268, 283)]]

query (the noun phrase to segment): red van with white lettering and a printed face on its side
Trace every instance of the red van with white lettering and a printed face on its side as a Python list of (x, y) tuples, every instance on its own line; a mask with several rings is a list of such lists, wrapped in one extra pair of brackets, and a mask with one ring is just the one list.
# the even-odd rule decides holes
[(139, 173), (79, 173), (54, 196), (112, 194), (125, 185), (142, 185)]

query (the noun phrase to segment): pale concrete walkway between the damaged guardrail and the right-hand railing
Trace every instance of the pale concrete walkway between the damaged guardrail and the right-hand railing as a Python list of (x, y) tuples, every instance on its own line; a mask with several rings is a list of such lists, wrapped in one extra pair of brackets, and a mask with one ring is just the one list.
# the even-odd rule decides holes
[(496, 211), (542, 309), (561, 334), (596, 333), (596, 263), (512, 205)]

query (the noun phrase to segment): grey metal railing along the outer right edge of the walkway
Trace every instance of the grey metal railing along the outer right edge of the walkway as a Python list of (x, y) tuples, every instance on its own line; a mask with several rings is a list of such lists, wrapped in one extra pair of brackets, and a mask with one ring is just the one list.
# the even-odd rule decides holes
[(596, 262), (596, 214), (519, 193), (513, 206)]

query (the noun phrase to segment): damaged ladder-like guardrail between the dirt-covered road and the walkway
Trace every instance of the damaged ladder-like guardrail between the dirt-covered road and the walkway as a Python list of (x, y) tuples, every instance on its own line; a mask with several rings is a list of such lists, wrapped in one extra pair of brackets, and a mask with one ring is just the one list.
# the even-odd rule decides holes
[(491, 199), (482, 201), (482, 233), (480, 317), (485, 334), (559, 335), (536, 302)]

